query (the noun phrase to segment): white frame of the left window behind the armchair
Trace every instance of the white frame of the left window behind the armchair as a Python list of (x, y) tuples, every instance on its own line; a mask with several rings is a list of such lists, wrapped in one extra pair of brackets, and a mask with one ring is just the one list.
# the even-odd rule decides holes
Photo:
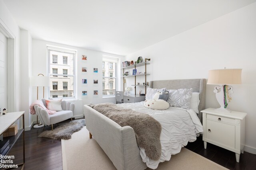
[[(65, 100), (74, 100), (77, 99), (77, 50), (75, 49), (68, 49), (64, 47), (58, 47), (53, 45), (46, 45), (47, 48), (47, 75), (50, 76), (50, 51), (57, 51), (61, 53), (70, 53), (74, 55), (74, 74), (65, 74), (65, 76), (73, 76), (74, 77), (74, 86), (73, 86), (73, 96), (72, 97), (65, 97)], [(58, 74), (59, 76), (63, 76), (63, 74)], [(48, 98), (50, 99), (50, 88), (48, 88)], [(63, 98), (62, 96), (58, 96), (58, 98), (54, 99), (60, 99)]]

